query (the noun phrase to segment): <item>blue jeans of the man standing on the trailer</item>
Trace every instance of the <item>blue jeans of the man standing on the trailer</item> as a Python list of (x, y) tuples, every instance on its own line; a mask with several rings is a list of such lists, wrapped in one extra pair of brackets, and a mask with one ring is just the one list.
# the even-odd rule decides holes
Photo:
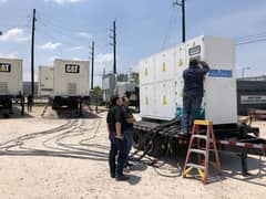
[(182, 130), (190, 133), (202, 105), (202, 96), (183, 97)]

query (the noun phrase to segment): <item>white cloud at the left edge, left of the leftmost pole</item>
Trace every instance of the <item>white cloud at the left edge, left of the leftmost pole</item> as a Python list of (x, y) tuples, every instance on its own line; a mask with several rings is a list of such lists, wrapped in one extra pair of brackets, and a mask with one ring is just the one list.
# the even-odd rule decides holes
[(10, 29), (7, 33), (0, 35), (0, 42), (24, 42), (30, 40), (30, 35), (24, 33), (23, 29)]

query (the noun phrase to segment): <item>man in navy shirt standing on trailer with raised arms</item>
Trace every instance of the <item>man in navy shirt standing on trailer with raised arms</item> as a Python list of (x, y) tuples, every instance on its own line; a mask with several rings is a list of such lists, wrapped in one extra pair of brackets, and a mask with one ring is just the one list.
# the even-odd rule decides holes
[(184, 96), (183, 96), (183, 116), (182, 133), (190, 134), (192, 125), (196, 118), (202, 105), (204, 94), (203, 81), (209, 71), (206, 62), (192, 59), (190, 66), (183, 72)]

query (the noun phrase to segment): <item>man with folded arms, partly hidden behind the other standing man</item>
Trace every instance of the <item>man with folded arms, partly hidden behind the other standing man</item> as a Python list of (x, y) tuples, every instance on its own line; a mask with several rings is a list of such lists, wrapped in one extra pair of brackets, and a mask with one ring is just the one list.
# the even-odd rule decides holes
[(133, 145), (133, 123), (135, 123), (135, 118), (132, 114), (132, 111), (129, 108), (129, 105), (130, 105), (130, 100), (127, 97), (123, 97), (123, 112), (125, 117), (124, 137), (126, 140), (125, 168), (132, 166), (129, 163), (129, 158), (130, 158), (130, 151)]

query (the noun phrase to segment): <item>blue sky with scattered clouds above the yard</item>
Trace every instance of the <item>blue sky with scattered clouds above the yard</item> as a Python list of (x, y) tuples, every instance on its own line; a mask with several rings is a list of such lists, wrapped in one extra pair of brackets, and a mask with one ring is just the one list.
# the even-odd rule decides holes
[[(0, 56), (23, 59), (30, 80), (32, 9), (37, 9), (35, 66), (54, 57), (88, 59), (95, 41), (95, 84), (112, 70), (109, 29), (117, 23), (117, 71), (129, 72), (150, 54), (181, 42), (181, 9), (173, 0), (0, 0)], [(233, 39), (266, 32), (265, 0), (186, 0), (187, 39), (221, 35)], [(266, 74), (266, 42), (236, 48), (238, 72)], [(38, 72), (38, 70), (35, 70)], [(37, 73), (38, 74), (38, 73)], [(37, 76), (38, 77), (38, 76)]]

